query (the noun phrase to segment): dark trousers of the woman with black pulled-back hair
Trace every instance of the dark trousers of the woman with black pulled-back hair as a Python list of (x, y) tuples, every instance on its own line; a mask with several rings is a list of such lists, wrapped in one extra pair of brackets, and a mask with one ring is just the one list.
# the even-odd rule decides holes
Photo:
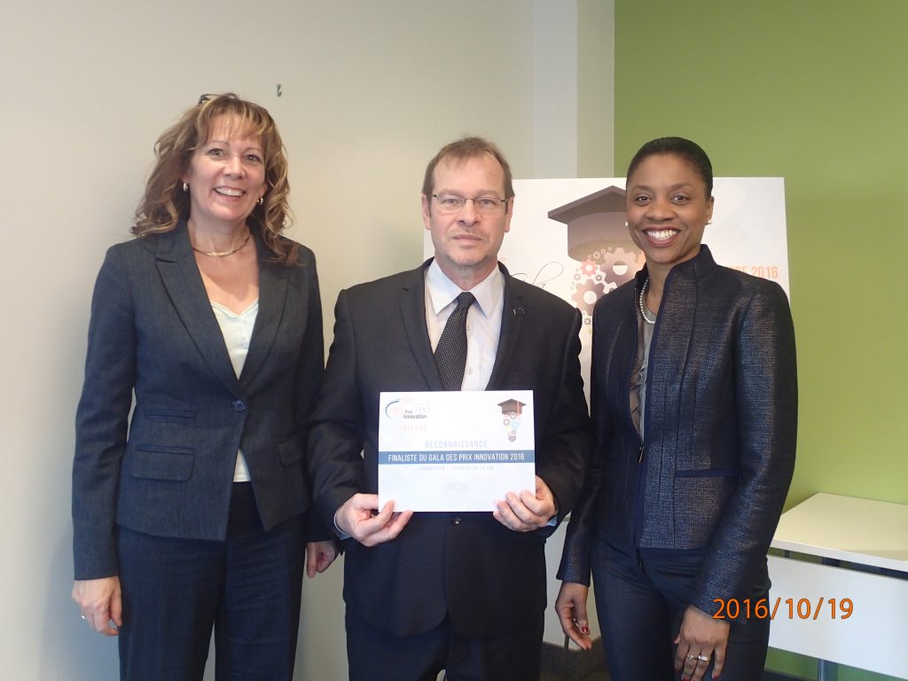
[[(612, 681), (676, 681), (675, 637), (706, 551), (619, 547), (597, 538), (592, 557), (596, 609)], [(755, 577), (751, 603), (769, 595), (765, 567)], [(759, 681), (769, 620), (731, 623), (722, 681)], [(711, 678), (713, 663), (704, 678)]]

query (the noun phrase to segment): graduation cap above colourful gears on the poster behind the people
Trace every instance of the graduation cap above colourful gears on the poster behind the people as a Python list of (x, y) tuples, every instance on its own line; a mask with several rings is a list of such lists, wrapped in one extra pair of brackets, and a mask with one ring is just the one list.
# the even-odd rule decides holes
[(592, 321), (596, 302), (608, 291), (630, 281), (643, 267), (644, 257), (627, 233), (627, 192), (614, 184), (548, 212), (568, 225), (568, 255), (579, 262), (571, 296)]

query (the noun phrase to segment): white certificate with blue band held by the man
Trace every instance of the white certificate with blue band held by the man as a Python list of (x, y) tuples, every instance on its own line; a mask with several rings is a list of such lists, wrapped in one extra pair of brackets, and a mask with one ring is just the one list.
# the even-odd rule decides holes
[(536, 489), (532, 390), (382, 392), (379, 508), (491, 511)]

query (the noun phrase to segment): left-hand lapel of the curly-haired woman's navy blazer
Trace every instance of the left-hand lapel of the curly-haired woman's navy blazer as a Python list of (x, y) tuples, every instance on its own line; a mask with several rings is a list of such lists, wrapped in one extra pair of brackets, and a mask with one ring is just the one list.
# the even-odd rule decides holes
[(192, 257), (186, 223), (158, 237), (155, 253), (158, 272), (183, 326), (214, 374), (230, 390), (239, 388), (221, 327), (214, 318), (212, 304), (205, 293), (202, 275)]

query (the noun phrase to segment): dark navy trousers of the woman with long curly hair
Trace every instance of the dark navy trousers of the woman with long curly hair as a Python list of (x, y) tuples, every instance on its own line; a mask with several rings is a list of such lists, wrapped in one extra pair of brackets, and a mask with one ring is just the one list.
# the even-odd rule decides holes
[(225, 541), (119, 528), (123, 681), (200, 681), (212, 627), (218, 681), (291, 681), (305, 539), (303, 516), (265, 532), (249, 483)]

